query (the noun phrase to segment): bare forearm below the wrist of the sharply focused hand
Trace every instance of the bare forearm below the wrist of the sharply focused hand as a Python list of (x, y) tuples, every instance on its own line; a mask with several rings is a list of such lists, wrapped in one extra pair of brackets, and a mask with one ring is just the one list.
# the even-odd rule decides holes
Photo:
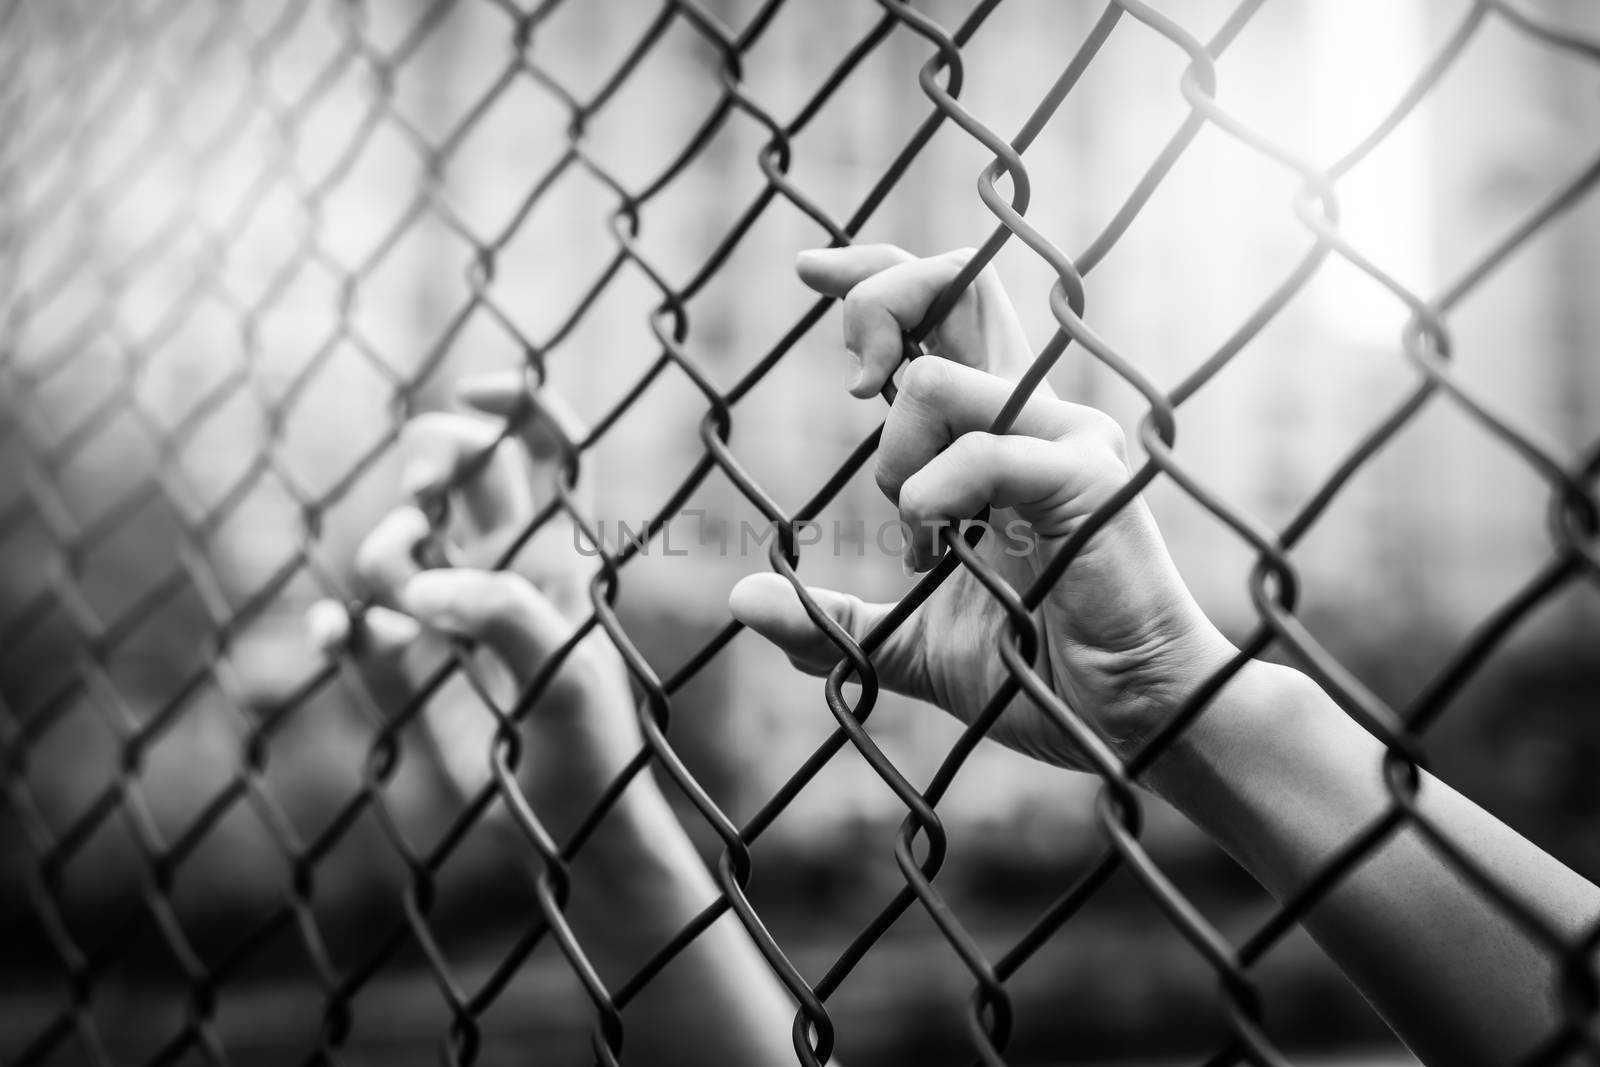
[[(1152, 785), (1282, 899), (1386, 811), (1382, 752), (1304, 675), (1251, 664)], [(1424, 777), (1419, 809), (1546, 925), (1576, 937), (1600, 915), (1600, 889), (1443, 782)], [(1306, 926), (1424, 1062), (1515, 1062), (1557, 1027), (1550, 953), (1413, 827)]]

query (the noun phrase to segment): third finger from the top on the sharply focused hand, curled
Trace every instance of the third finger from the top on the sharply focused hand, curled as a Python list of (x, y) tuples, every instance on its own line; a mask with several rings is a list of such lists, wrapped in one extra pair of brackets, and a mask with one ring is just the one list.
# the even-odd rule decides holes
[[(950, 442), (987, 430), (1011, 398), (1013, 384), (949, 360), (917, 360), (901, 379), (878, 445), (878, 488), (899, 502), (901, 486)], [(1117, 424), (1083, 405), (1032, 395), (1006, 434), (1056, 440), (1094, 430), (1114, 438)]]

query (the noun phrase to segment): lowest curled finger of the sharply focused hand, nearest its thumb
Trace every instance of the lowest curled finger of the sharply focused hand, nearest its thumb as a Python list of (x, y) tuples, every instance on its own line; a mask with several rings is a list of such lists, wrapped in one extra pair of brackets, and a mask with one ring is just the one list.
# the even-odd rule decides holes
[(1016, 509), (1034, 534), (1064, 537), (1126, 478), (1110, 450), (1074, 437), (965, 434), (901, 486), (901, 522), (910, 530), (906, 561), (930, 569), (944, 553), (941, 526), (984, 507)]

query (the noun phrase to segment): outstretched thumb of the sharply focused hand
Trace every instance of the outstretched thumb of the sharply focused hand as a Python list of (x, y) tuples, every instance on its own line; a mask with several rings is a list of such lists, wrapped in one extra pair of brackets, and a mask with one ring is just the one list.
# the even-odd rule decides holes
[[(806, 595), (856, 641), (866, 638), (872, 627), (894, 606), (867, 603), (851, 593), (813, 585), (806, 585)], [(728, 609), (734, 619), (776, 645), (795, 667), (806, 673), (826, 675), (834, 669), (834, 664), (845, 657), (806, 614), (794, 585), (779, 574), (749, 574), (739, 579), (739, 584), (728, 595)], [(872, 662), (883, 688), (928, 699), (928, 680), (922, 672), (912, 669), (915, 657), (907, 654), (910, 648), (907, 637), (907, 627), (896, 630), (872, 654)]]

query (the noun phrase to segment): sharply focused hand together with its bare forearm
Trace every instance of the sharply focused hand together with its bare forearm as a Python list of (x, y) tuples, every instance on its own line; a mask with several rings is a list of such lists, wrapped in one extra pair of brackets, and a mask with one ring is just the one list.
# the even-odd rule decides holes
[[(966, 262), (915, 259), (891, 246), (803, 253), (800, 277), (845, 301), (845, 344), (861, 360), (851, 392), (877, 394), (901, 362), (901, 334)], [(1038, 534), (1016, 558), (987, 561), (1018, 589), (1128, 477), (1122, 434), (1106, 416), (1035, 390), (1003, 435), (987, 432), (1032, 354), (990, 272), (909, 365), (878, 448), (877, 478), (907, 525), (930, 528), (994, 507)], [(942, 545), (912, 553), (931, 566)], [(858, 640), (893, 605), (813, 589)], [(744, 579), (733, 613), (802, 669), (837, 653), (792, 587)], [(1128, 755), (1237, 649), (1200, 611), (1149, 510), (1134, 502), (1090, 539), (1035, 611), (1035, 670), (1109, 744)], [(994, 649), (1005, 616), (958, 569), (874, 654), (880, 685), (928, 699), (962, 721), (1005, 672)], [(1035, 758), (1082, 768), (1083, 753), (1026, 696), (990, 736)], [(1144, 785), (1171, 801), (1280, 899), (1304, 886), (1390, 803), (1384, 749), (1301, 672), (1251, 661), (1149, 768)], [(1429, 774), (1418, 809), (1566, 942), (1600, 917), (1600, 889)], [(1498, 1067), (1539, 1048), (1558, 1025), (1550, 953), (1430, 848), (1414, 827), (1390, 837), (1306, 918), (1306, 928), (1427, 1064)]]

